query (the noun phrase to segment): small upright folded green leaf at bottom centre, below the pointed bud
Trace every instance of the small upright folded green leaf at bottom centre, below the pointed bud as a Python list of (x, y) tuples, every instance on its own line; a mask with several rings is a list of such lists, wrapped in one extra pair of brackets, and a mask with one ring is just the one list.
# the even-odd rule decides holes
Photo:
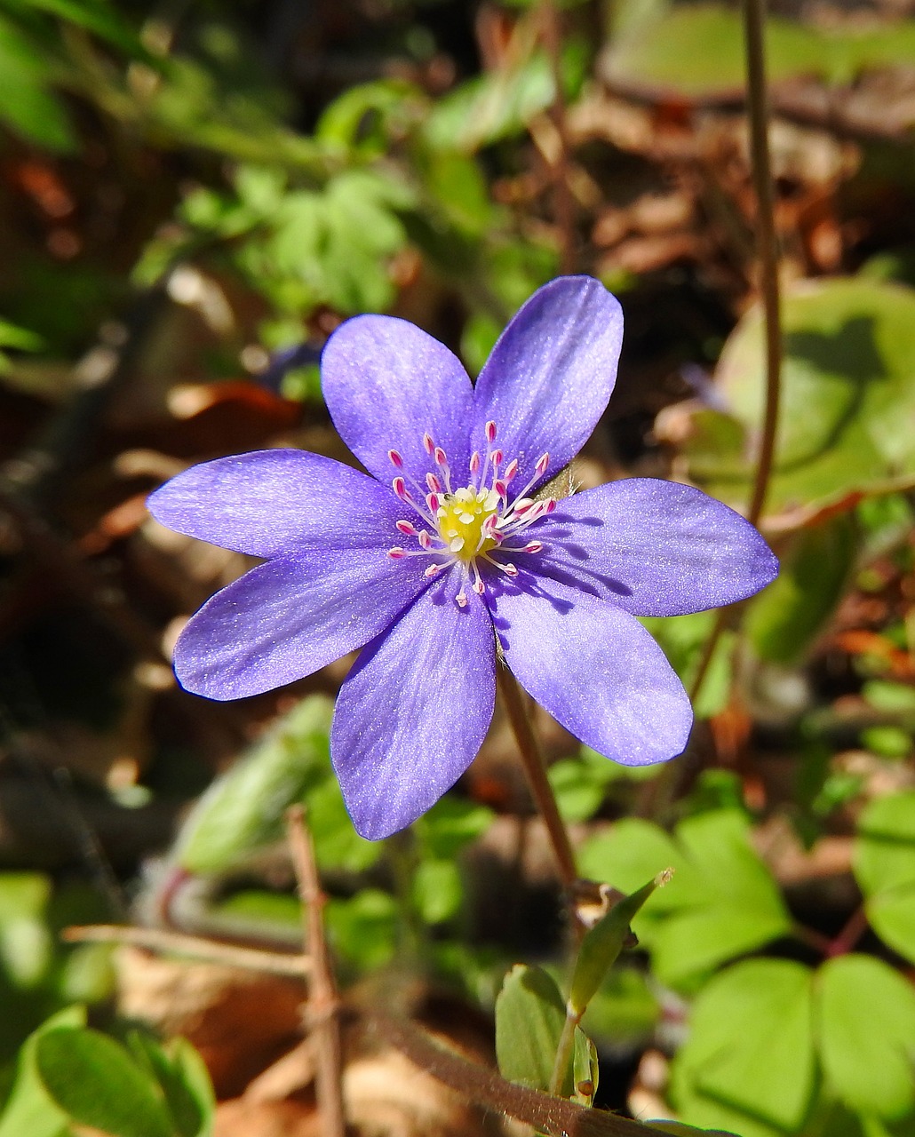
[[(508, 1081), (529, 1089), (549, 1089), (565, 1001), (542, 968), (517, 964), (505, 977), (496, 999), (496, 1057)], [(564, 1096), (572, 1093), (572, 1071)]]

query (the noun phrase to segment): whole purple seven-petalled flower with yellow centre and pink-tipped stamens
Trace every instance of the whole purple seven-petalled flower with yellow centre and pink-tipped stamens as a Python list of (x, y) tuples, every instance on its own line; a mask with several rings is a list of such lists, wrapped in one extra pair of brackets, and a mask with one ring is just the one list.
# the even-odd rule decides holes
[(322, 379), (368, 474), (261, 450), (151, 496), (163, 524), (265, 558), (184, 629), (175, 670), (188, 690), (256, 695), (361, 648), (331, 757), (363, 836), (409, 824), (471, 764), (497, 656), (616, 762), (680, 754), (690, 703), (635, 617), (730, 604), (775, 575), (756, 530), (691, 487), (543, 490), (604, 412), (622, 334), (601, 284), (560, 277), (524, 305), (474, 385), (413, 324), (357, 316), (328, 340)]

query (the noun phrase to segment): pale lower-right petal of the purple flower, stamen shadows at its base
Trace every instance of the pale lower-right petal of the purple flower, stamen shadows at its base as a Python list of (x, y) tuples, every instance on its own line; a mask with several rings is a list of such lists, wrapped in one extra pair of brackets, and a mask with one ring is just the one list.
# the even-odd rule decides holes
[(633, 616), (552, 581), (502, 584), (486, 597), (508, 666), (576, 738), (627, 766), (683, 750), (689, 698)]

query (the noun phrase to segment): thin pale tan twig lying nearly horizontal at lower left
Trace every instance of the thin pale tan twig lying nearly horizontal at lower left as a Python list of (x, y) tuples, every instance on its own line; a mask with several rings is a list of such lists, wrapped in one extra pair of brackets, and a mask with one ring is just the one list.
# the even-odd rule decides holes
[(219, 944), (201, 936), (188, 936), (163, 928), (136, 928), (122, 924), (83, 924), (65, 928), (60, 935), (67, 944), (131, 944), (150, 952), (185, 955), (206, 963), (224, 963), (246, 971), (263, 971), (272, 976), (301, 979), (311, 970), (311, 961), (301, 955), (263, 952), (255, 947)]

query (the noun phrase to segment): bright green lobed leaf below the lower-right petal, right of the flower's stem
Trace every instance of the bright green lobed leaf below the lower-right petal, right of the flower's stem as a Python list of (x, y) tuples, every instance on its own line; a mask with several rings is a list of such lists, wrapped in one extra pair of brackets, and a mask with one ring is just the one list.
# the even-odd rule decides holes
[(658, 979), (672, 987), (787, 935), (791, 918), (749, 840), (742, 813), (715, 810), (682, 821), (671, 838), (635, 819), (587, 841), (582, 872), (635, 889), (659, 864), (674, 869), (668, 888), (633, 921)]

